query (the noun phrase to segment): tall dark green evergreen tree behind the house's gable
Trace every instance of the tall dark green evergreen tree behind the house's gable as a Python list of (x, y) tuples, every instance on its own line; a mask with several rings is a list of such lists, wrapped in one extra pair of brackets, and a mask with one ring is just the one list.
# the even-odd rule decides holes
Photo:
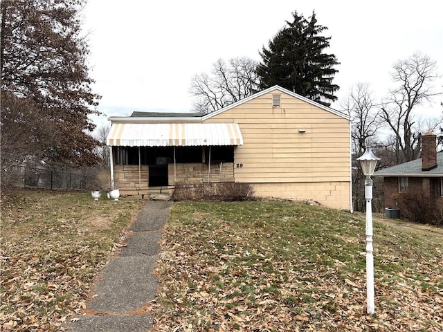
[(286, 21), (272, 40), (269, 48), (262, 48), (262, 62), (257, 66), (260, 88), (275, 84), (321, 104), (330, 105), (337, 97), (338, 85), (332, 84), (338, 71), (335, 55), (325, 54), (329, 39), (320, 35), (325, 26), (317, 24), (315, 12), (305, 19), (293, 12), (293, 22)]

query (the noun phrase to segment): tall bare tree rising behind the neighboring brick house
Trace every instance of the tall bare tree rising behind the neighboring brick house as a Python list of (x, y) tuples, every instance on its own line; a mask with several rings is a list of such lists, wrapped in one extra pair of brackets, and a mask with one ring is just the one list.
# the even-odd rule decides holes
[(438, 75), (436, 62), (422, 53), (399, 60), (393, 68), (392, 80), (399, 86), (390, 91), (380, 116), (394, 135), (395, 163), (399, 164), (419, 157), (422, 128), (415, 110), (430, 101), (432, 82)]

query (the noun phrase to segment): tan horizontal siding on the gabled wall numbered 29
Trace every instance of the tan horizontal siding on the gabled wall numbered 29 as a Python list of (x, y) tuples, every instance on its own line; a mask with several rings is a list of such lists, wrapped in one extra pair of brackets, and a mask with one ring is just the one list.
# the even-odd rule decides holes
[(281, 93), (281, 107), (272, 107), (272, 95), (261, 95), (205, 121), (239, 124), (244, 144), (235, 148), (234, 165), (243, 167), (234, 167), (235, 181), (340, 181), (341, 191), (346, 191), (345, 183), (349, 194), (349, 121), (286, 93)]

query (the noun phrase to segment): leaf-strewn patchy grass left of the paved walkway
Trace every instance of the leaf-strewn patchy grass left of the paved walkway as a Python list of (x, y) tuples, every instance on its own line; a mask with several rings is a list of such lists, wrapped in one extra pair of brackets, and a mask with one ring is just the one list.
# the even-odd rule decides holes
[(1, 200), (1, 331), (60, 331), (142, 200), (21, 190)]

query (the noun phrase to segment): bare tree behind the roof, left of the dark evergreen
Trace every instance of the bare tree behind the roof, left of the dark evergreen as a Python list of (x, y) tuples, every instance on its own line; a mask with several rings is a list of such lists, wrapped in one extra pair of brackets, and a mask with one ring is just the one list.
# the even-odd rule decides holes
[(196, 111), (211, 113), (252, 95), (257, 90), (257, 62), (248, 57), (235, 57), (228, 63), (214, 62), (210, 75), (195, 74), (190, 93), (195, 97)]

